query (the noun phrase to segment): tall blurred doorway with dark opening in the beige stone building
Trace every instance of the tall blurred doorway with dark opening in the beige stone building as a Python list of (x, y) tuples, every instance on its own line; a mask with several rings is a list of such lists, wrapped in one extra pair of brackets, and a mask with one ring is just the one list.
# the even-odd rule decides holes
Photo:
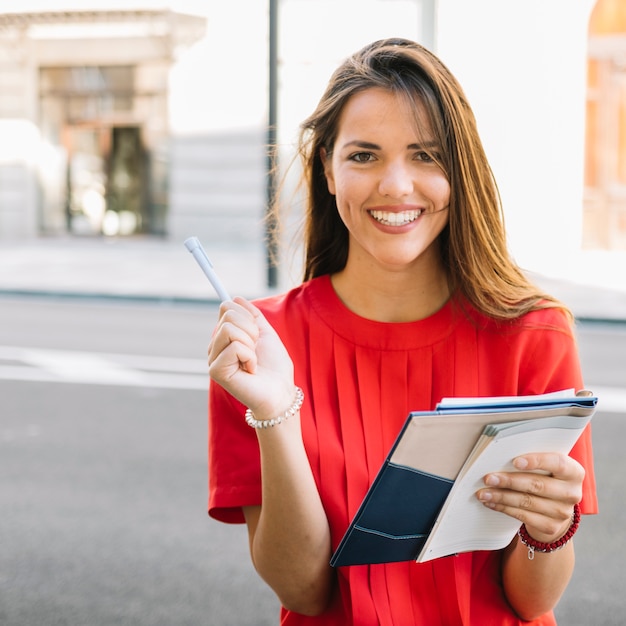
[(43, 233), (165, 234), (167, 91), (162, 78), (160, 72), (146, 77), (143, 66), (39, 68), (46, 146), (39, 174)]

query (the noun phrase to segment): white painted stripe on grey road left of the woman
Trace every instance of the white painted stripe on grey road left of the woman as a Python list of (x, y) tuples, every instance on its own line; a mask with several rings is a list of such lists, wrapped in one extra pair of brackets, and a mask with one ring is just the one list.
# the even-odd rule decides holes
[(0, 346), (0, 380), (206, 390), (206, 361)]

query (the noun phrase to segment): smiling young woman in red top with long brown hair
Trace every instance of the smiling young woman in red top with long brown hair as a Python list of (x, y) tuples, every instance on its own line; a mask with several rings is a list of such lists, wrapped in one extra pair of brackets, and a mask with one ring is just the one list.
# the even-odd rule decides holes
[(582, 379), (571, 316), (510, 259), (473, 114), (435, 56), (406, 40), (356, 53), (300, 147), (305, 280), (224, 303), (209, 346), (210, 514), (247, 524), (281, 624), (554, 624), (574, 567), (573, 542), (555, 542), (596, 508), (588, 432), (476, 494), (549, 544), (533, 560), (516, 536), (422, 564), (329, 566), (409, 411)]

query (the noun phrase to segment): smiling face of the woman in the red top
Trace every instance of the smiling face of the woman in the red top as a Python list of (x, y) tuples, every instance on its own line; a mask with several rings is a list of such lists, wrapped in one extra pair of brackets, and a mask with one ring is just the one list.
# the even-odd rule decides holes
[(416, 123), (401, 96), (357, 93), (341, 113), (332, 153), (322, 151), (328, 189), (350, 233), (349, 263), (399, 270), (438, 255), (433, 242), (448, 223), (450, 185), (429, 156), (439, 147), (419, 109)]

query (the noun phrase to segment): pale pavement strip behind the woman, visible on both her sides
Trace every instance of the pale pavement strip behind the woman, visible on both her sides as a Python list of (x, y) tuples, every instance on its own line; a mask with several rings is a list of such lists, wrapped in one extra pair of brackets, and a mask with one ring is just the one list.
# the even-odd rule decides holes
[[(297, 284), (278, 269), (267, 286), (263, 242), (211, 242), (205, 248), (231, 295), (256, 298)], [(626, 323), (626, 255), (590, 254), (569, 276), (531, 274), (580, 320)], [(0, 295), (214, 303), (216, 295), (183, 241), (154, 237), (39, 237), (0, 241)]]

